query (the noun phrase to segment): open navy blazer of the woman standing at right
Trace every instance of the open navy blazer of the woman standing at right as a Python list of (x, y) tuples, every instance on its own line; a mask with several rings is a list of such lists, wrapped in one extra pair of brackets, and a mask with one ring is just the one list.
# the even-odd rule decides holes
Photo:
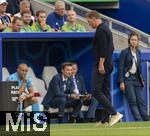
[[(136, 55), (137, 55), (138, 70), (141, 76), (142, 75), (141, 74), (141, 51), (139, 49), (137, 49)], [(125, 74), (131, 69), (132, 64), (133, 64), (133, 56), (130, 47), (128, 47), (122, 50), (120, 54), (119, 78), (118, 78), (119, 83), (124, 82)]]

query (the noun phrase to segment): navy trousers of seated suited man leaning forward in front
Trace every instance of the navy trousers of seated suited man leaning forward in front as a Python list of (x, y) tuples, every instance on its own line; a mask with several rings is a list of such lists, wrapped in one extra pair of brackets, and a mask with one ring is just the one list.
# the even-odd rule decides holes
[(71, 100), (65, 97), (57, 97), (52, 99), (50, 107), (58, 108), (58, 116), (64, 116), (64, 110), (68, 107), (73, 107), (72, 116), (77, 117), (83, 102), (81, 100)]

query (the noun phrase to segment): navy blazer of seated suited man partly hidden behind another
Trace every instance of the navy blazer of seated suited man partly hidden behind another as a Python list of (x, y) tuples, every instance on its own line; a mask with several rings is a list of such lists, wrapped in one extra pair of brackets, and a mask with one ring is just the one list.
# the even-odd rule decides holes
[(78, 86), (79, 93), (80, 94), (85, 94), (86, 93), (86, 87), (85, 87), (83, 77), (79, 74), (76, 74), (75, 78), (76, 78), (76, 84)]

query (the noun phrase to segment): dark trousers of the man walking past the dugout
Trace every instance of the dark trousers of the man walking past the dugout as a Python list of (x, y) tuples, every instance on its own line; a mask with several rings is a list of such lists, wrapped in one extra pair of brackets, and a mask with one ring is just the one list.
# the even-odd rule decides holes
[[(100, 74), (98, 68), (93, 69), (92, 73), (92, 91), (93, 96), (102, 104), (104, 108), (102, 122), (108, 120), (109, 115), (115, 115), (116, 111), (111, 104), (110, 95), (110, 76), (111, 73)], [(106, 119), (105, 119), (106, 118)]]

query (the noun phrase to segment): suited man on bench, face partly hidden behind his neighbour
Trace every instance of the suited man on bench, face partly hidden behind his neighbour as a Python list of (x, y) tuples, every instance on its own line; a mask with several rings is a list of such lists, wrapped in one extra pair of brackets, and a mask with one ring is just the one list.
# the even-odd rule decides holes
[[(86, 91), (85, 83), (83, 77), (78, 72), (77, 63), (72, 63), (72, 77), (75, 86), (74, 93), (81, 95), (80, 99), (83, 100), (83, 104), (89, 106), (87, 112), (87, 122), (95, 122), (95, 111), (98, 106), (98, 101)], [(82, 96), (83, 95), (83, 96)], [(79, 122), (84, 122), (83, 113), (80, 111)]]

